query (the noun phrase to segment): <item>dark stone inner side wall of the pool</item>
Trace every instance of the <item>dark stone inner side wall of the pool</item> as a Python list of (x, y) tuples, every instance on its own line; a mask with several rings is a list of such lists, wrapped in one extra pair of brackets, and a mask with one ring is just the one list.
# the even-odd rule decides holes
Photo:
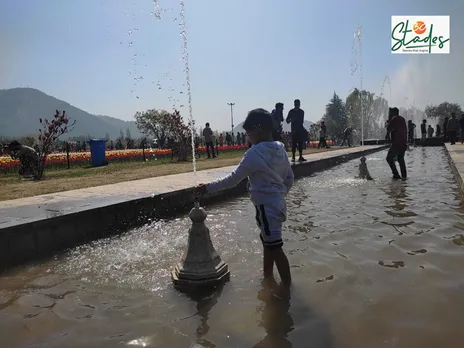
[[(386, 147), (308, 161), (292, 168), (295, 178), (301, 178)], [(246, 180), (235, 188), (205, 196), (201, 203), (208, 206), (244, 193)], [(152, 219), (185, 213), (192, 205), (193, 187), (0, 229), (0, 272), (51, 257), (80, 244), (124, 233)]]

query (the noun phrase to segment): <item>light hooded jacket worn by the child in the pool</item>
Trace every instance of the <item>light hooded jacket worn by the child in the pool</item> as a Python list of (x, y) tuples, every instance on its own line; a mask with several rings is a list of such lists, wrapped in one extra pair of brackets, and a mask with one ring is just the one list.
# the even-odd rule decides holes
[(231, 174), (206, 185), (206, 190), (213, 193), (232, 188), (247, 177), (253, 204), (285, 199), (294, 177), (284, 144), (272, 141), (253, 145)]

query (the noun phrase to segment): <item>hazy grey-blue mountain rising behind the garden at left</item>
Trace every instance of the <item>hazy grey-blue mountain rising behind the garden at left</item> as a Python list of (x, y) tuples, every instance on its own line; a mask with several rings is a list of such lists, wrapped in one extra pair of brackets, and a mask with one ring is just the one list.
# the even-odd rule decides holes
[(76, 121), (74, 129), (63, 139), (77, 136), (105, 138), (106, 133), (111, 139), (116, 139), (121, 130), (125, 136), (127, 128), (133, 138), (142, 136), (133, 121), (92, 115), (34, 88), (0, 90), (0, 136), (11, 138), (38, 134), (39, 118), (51, 119), (56, 109), (66, 110), (69, 118)]

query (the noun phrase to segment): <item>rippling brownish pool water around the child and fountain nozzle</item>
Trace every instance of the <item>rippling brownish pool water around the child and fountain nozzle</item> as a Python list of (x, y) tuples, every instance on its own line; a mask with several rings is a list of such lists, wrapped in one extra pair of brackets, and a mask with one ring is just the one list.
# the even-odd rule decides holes
[(188, 218), (153, 222), (0, 278), (1, 347), (462, 347), (464, 210), (441, 148), (386, 153), (298, 181), (285, 228), (291, 299), (261, 284), (247, 197), (208, 209), (231, 281), (189, 298), (169, 272)]

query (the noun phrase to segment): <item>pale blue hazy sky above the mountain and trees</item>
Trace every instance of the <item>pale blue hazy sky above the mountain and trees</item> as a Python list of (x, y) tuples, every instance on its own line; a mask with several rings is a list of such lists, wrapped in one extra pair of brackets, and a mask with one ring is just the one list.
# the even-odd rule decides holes
[[(188, 117), (180, 2), (1, 0), (0, 89), (34, 87), (95, 114), (125, 120), (148, 108)], [(363, 26), (364, 87), (392, 102), (464, 105), (462, 0), (185, 0), (193, 115), (230, 127), (255, 107), (289, 110), (300, 98), (317, 121), (351, 73), (353, 32)], [(451, 54), (392, 55), (392, 15), (451, 15)], [(388, 85), (385, 97), (390, 97)], [(407, 98), (407, 99), (406, 99)], [(185, 105), (181, 107), (181, 105)]]

